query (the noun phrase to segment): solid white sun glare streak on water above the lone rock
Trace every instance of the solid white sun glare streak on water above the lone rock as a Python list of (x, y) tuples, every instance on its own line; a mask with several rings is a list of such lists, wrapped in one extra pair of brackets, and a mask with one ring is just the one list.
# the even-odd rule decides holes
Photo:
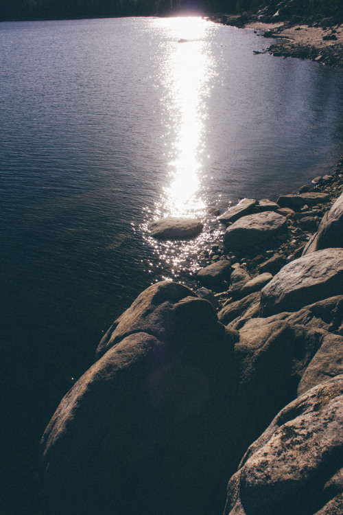
[(171, 149), (171, 183), (165, 188), (165, 209), (172, 216), (189, 216), (204, 209), (199, 195), (200, 160), (210, 76), (210, 59), (200, 18), (170, 19), (173, 37), (169, 69), (169, 112), (176, 134)]

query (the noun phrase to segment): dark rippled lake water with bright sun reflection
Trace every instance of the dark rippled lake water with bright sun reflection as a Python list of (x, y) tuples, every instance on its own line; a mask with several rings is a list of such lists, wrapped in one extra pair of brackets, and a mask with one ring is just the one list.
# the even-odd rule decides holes
[[(25, 423), (45, 425), (143, 288), (197, 270), (220, 227), (206, 206), (338, 161), (342, 72), (253, 54), (268, 43), (196, 17), (0, 23), (4, 363)], [(164, 215), (204, 232), (157, 243)]]

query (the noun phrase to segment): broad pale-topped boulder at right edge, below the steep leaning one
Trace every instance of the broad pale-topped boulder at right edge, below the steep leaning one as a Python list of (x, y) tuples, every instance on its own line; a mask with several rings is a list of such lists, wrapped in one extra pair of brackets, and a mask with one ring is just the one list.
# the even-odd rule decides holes
[(261, 316), (297, 311), (343, 291), (343, 249), (324, 249), (287, 264), (261, 291)]

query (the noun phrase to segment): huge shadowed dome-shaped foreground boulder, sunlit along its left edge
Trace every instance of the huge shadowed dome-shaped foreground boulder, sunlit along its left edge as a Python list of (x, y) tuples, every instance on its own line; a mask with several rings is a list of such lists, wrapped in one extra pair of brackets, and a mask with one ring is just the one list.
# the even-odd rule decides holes
[(232, 468), (230, 333), (208, 301), (170, 282), (112, 329), (43, 435), (44, 513), (217, 512)]

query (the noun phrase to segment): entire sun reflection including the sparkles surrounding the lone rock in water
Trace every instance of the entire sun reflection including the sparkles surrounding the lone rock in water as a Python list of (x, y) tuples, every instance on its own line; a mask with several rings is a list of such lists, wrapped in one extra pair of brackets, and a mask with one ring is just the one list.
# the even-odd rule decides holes
[[(156, 24), (167, 34), (167, 53), (158, 80), (165, 91), (161, 101), (168, 167), (161, 200), (156, 203), (154, 212), (146, 213), (143, 229), (158, 258), (161, 279), (180, 280), (180, 275), (189, 275), (199, 268), (200, 252), (209, 240), (213, 242), (213, 231), (217, 230), (211, 227), (205, 210), (204, 177), (209, 170), (206, 170), (208, 156), (203, 153), (207, 99), (211, 79), (215, 76), (215, 63), (209, 45), (209, 22), (200, 17), (187, 17), (158, 19)], [(204, 231), (194, 240), (156, 241), (148, 236), (148, 222), (161, 216), (201, 218)], [(153, 266), (149, 264), (149, 271)]]

